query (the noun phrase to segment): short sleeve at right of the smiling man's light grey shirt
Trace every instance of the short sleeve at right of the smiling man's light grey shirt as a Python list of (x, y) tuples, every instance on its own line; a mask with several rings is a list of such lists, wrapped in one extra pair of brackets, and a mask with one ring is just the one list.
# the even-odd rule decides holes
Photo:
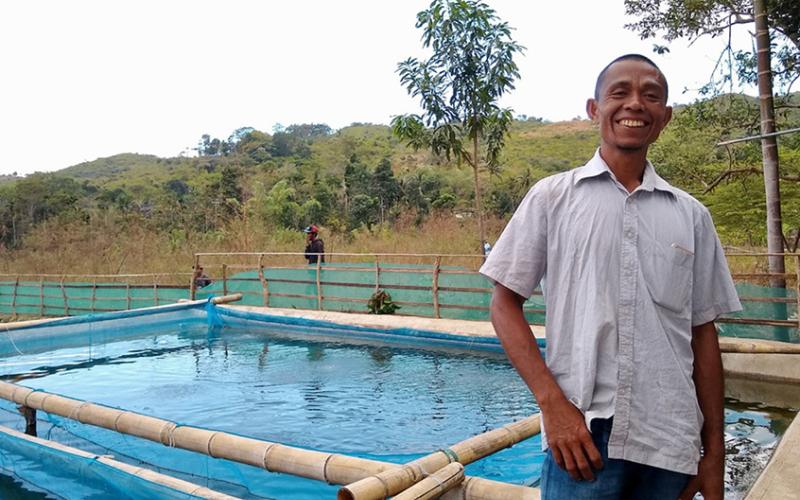
[(700, 212), (695, 223), (692, 326), (742, 310), (711, 214), (705, 207)]

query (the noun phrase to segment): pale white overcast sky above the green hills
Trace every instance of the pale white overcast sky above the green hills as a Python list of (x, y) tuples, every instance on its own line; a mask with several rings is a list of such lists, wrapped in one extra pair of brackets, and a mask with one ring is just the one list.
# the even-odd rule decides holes
[[(527, 50), (501, 105), (551, 121), (585, 117), (597, 73), (651, 57), (670, 101), (691, 102), (722, 40), (652, 52), (622, 0), (485, 0)], [(0, 16), (0, 175), (118, 153), (177, 156), (201, 135), (250, 126), (388, 124), (420, 112), (396, 73), (426, 57), (429, 0), (26, 0)], [(739, 35), (749, 44), (748, 36)], [(746, 48), (746, 46), (745, 46)], [(688, 89), (688, 92), (684, 92)]]

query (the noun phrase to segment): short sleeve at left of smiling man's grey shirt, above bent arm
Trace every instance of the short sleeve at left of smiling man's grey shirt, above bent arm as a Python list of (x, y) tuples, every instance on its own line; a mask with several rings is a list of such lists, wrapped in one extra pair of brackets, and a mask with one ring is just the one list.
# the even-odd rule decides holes
[(517, 207), (480, 273), (526, 299), (547, 267), (546, 180), (534, 185)]

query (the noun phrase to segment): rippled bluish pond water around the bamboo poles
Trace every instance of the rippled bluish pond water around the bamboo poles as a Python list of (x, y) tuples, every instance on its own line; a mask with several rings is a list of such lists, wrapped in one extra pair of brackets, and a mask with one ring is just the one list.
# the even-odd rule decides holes
[[(23, 348), (24, 354), (3, 360), (0, 376), (181, 424), (396, 463), (538, 411), (502, 354), (345, 342), (313, 333), (176, 324), (91, 346), (30, 354)], [(0, 424), (20, 429), (21, 418), (13, 406), (0, 407)], [(793, 415), (790, 410), (727, 400), (728, 497), (740, 496), (757, 477)], [(47, 416), (40, 412), (40, 417)], [(119, 460), (177, 472), (237, 496), (285, 498), (291, 492), (291, 498), (333, 498), (337, 489), (55, 416), (42, 422), (43, 434)], [(534, 485), (542, 459), (540, 440), (534, 437), (469, 465), (467, 474)], [(35, 483), (43, 480), (44, 472), (25, 478), (17, 471), (16, 482), (4, 477), (0, 497), (41, 498), (41, 492), (30, 491), (35, 488), (20, 485), (19, 479)], [(102, 496), (102, 485), (46, 484), (51, 497)]]

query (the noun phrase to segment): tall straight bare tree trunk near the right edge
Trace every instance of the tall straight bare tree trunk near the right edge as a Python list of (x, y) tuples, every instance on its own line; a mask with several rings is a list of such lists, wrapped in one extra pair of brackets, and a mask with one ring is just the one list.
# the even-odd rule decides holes
[[(756, 50), (758, 54), (758, 102), (761, 109), (761, 135), (775, 132), (775, 109), (772, 102), (772, 69), (770, 63), (770, 37), (767, 25), (765, 0), (755, 0)], [(775, 136), (761, 139), (764, 164), (764, 188), (767, 198), (767, 250), (783, 253), (783, 228), (781, 224), (781, 192), (778, 172), (778, 141)], [(783, 256), (768, 257), (770, 273), (785, 273)], [(786, 287), (784, 276), (770, 277), (772, 287)]]

